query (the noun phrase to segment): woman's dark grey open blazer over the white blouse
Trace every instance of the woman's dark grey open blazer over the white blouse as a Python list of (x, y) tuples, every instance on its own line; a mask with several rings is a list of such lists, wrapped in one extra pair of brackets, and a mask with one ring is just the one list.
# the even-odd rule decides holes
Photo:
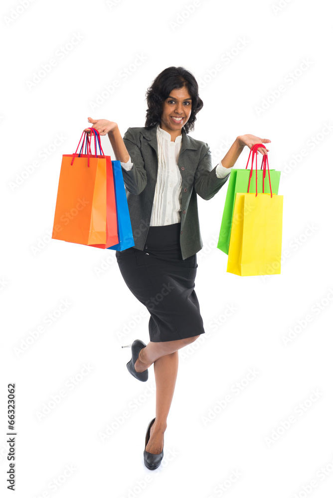
[[(124, 143), (131, 156), (133, 168), (122, 168), (126, 197), (130, 212), (134, 247), (145, 249), (153, 209), (158, 170), (157, 126), (128, 128)], [(182, 129), (178, 167), (181, 173), (180, 249), (185, 259), (200, 249), (197, 198), (211, 199), (229, 178), (217, 178), (212, 169), (211, 153), (207, 143), (195, 140)], [(221, 214), (222, 215), (222, 214)]]

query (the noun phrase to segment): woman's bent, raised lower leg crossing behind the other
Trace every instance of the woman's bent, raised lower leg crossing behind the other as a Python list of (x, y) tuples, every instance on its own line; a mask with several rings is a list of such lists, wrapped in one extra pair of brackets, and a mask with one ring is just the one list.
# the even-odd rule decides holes
[(147, 370), (156, 360), (162, 356), (170, 355), (178, 349), (187, 346), (197, 339), (199, 336), (188, 337), (187, 339), (179, 339), (177, 341), (165, 341), (165, 342), (149, 342), (145, 348), (143, 348), (140, 353), (138, 360), (135, 362), (134, 369), (137, 372), (144, 372)]

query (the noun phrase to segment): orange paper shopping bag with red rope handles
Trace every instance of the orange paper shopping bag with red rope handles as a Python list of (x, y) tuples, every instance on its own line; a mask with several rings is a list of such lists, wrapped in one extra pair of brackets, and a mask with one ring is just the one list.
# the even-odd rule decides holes
[[(97, 155), (95, 133), (92, 133), (95, 137), (95, 156), (91, 153), (92, 134), (86, 142), (86, 153), (82, 153), (83, 139), (81, 150), (77, 154), (84, 134), (85, 132), (81, 135), (75, 153), (64, 154), (62, 157), (52, 239), (84, 245), (105, 245), (107, 177), (110, 178), (110, 175), (107, 173), (106, 157)], [(116, 222), (116, 213), (114, 218)], [(114, 223), (114, 230), (116, 229)], [(112, 242), (114, 240), (117, 239), (113, 238)]]

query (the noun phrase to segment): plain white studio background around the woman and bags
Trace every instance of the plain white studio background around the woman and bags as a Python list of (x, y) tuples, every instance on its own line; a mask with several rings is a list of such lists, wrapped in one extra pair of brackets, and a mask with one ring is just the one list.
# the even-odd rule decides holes
[[(17, 497), (332, 496), (332, 6), (278, 1), (1, 3), (3, 496), (11, 496), (10, 382)], [(138, 55), (145, 60), (131, 66)], [(49, 72), (29, 84), (51, 59)], [(121, 349), (136, 338), (148, 342), (147, 310), (123, 281), (114, 251), (48, 233), (62, 154), (75, 151), (88, 116), (117, 122), (122, 134), (143, 126), (145, 92), (168, 66), (201, 82), (204, 106), (191, 135), (209, 143), (213, 166), (237, 135), (272, 140), (270, 167), (285, 173), (279, 194), (288, 257), (281, 275), (226, 273), (216, 242), (227, 184), (209, 202), (198, 198), (204, 247), (195, 291), (206, 334), (196, 349), (179, 351), (165, 458), (149, 471), (143, 451), (155, 416), (154, 370), (140, 383), (126, 369), (130, 350)], [(115, 79), (120, 86), (93, 107)], [(102, 143), (114, 158), (107, 136)], [(70, 304), (47, 325), (61, 300)], [(38, 326), (44, 332), (31, 339)], [(249, 369), (257, 374), (246, 381)], [(218, 401), (228, 394), (222, 409)], [(49, 413), (38, 416), (47, 405)], [(108, 426), (114, 432), (103, 442)]]

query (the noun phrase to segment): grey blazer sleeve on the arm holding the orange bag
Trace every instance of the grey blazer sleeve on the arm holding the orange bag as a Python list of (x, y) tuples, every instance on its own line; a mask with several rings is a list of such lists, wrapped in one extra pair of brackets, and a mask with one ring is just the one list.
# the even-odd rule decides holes
[(141, 194), (147, 185), (147, 171), (140, 150), (140, 141), (132, 128), (128, 128), (123, 137), (125, 146), (133, 162), (133, 168), (122, 167), (124, 184), (131, 194)]

